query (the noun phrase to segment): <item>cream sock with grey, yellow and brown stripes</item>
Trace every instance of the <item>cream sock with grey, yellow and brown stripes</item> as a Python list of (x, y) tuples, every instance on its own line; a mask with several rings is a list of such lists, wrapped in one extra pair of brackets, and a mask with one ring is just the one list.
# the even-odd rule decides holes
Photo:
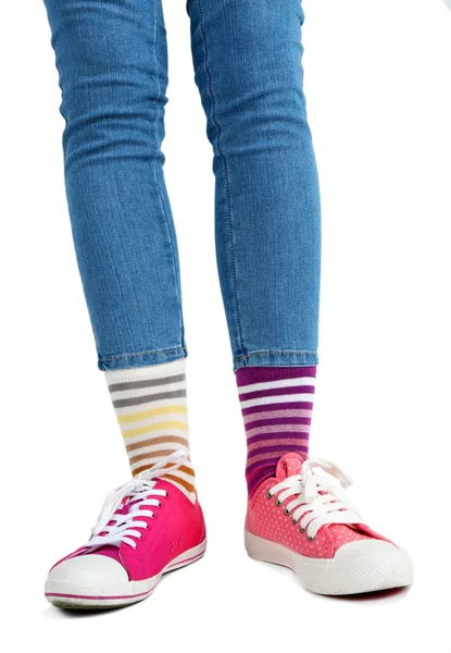
[(105, 372), (133, 476), (177, 449), (187, 461), (164, 478), (196, 502), (189, 458), (185, 359)]

